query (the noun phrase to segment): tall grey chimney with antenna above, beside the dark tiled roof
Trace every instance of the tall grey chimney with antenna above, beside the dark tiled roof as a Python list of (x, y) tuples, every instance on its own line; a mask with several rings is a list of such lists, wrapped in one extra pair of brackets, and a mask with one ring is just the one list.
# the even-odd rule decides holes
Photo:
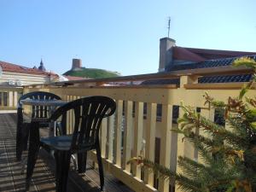
[(172, 38), (160, 38), (159, 72), (164, 72), (166, 66), (172, 62), (172, 47), (175, 43)]

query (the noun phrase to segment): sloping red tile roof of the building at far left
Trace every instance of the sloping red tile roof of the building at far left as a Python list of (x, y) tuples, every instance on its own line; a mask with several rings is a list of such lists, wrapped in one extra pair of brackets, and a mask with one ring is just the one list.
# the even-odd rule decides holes
[(0, 61), (0, 66), (3, 69), (3, 72), (16, 72), (16, 73), (29, 73), (29, 74), (41, 74), (41, 75), (52, 75), (57, 77), (58, 75), (55, 73), (48, 73), (44, 71), (40, 71), (38, 69), (22, 67), (19, 65), (15, 65), (9, 62)]

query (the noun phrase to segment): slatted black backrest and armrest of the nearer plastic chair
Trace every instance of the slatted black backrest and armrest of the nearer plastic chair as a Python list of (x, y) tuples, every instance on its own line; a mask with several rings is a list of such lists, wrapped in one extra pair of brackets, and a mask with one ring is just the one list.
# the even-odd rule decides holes
[(102, 119), (111, 116), (116, 108), (113, 99), (107, 96), (84, 97), (58, 108), (50, 120), (56, 120), (67, 112), (74, 115), (73, 140), (70, 150), (83, 152), (99, 144), (99, 129)]

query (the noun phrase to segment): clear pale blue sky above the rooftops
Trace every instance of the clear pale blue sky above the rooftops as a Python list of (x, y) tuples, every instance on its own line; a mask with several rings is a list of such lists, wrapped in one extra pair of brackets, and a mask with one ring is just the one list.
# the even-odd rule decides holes
[(255, 0), (0, 0), (0, 61), (65, 73), (72, 59), (123, 75), (155, 73), (159, 39), (256, 52)]

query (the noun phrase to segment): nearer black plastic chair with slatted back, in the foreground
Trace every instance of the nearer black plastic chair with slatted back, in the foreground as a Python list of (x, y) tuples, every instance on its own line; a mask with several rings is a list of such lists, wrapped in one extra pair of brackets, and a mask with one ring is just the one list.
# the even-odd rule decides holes
[[(78, 154), (79, 167), (86, 166), (86, 153), (91, 149), (96, 149), (96, 156), (100, 172), (101, 189), (104, 186), (104, 175), (102, 167), (102, 155), (99, 142), (99, 129), (102, 119), (112, 115), (116, 104), (113, 99), (107, 96), (90, 96), (68, 102), (58, 108), (50, 117), (50, 121), (55, 121), (67, 112), (74, 114), (73, 134), (58, 137), (41, 137), (40, 145), (55, 151), (55, 178), (56, 191), (67, 191), (67, 177), (72, 154)], [(38, 150), (39, 148), (36, 148)], [(32, 160), (28, 165), (27, 182), (30, 182), (38, 151), (32, 153)], [(80, 170), (81, 171), (81, 170)], [(29, 183), (26, 183), (26, 187)]]

